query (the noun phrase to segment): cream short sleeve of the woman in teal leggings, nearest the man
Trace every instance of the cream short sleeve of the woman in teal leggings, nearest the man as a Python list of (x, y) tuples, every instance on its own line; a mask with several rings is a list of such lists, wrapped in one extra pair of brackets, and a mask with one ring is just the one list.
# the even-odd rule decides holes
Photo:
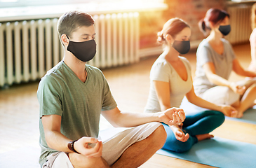
[(153, 64), (150, 71), (150, 80), (169, 82), (170, 68), (167, 66), (166, 62), (158, 62)]

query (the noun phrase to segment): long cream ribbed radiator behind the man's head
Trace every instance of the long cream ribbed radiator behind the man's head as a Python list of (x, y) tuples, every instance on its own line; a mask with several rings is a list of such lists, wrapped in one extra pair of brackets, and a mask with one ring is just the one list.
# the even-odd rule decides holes
[[(98, 68), (139, 61), (139, 13), (93, 15)], [(64, 55), (58, 18), (0, 23), (0, 87), (41, 78)]]

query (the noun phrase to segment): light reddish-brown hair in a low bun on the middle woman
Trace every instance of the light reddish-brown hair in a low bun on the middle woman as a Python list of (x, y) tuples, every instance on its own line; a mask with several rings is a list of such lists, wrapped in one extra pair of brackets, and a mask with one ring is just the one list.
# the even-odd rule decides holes
[(172, 18), (172, 19), (168, 20), (163, 25), (162, 31), (158, 32), (157, 42), (159, 42), (161, 44), (166, 44), (166, 38), (164, 38), (166, 36), (166, 34), (170, 34), (170, 36), (173, 36), (173, 38), (175, 38), (175, 36), (178, 33), (180, 33), (180, 31), (182, 31), (182, 29), (184, 29), (185, 27), (189, 27), (189, 25), (187, 24), (187, 22), (184, 22), (180, 18)]

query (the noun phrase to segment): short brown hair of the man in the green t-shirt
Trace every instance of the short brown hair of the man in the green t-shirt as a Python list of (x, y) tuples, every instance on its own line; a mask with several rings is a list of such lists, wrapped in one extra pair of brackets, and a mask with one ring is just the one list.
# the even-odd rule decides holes
[(57, 25), (60, 41), (62, 34), (72, 37), (72, 33), (79, 27), (90, 27), (91, 25), (94, 25), (94, 20), (88, 13), (74, 10), (63, 14), (60, 16)]

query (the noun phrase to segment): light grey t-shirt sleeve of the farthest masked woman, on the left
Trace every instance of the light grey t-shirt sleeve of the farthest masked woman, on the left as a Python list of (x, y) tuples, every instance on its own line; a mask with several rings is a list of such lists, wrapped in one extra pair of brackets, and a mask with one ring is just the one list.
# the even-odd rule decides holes
[(196, 51), (196, 62), (198, 62), (200, 66), (203, 66), (208, 62), (213, 62), (213, 55), (210, 52), (210, 48), (206, 45), (199, 45)]

